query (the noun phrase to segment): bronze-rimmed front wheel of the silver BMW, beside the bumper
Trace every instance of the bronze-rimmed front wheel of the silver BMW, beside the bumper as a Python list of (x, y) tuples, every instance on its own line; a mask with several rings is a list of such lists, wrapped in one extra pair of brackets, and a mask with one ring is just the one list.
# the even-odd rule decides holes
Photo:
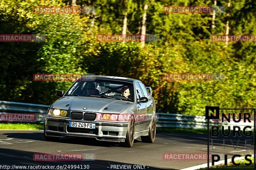
[(132, 147), (134, 143), (134, 133), (135, 133), (135, 122), (134, 122), (134, 117), (131, 116), (129, 119), (129, 125), (126, 133), (125, 142), (122, 143), (123, 146), (129, 147), (129, 148)]

